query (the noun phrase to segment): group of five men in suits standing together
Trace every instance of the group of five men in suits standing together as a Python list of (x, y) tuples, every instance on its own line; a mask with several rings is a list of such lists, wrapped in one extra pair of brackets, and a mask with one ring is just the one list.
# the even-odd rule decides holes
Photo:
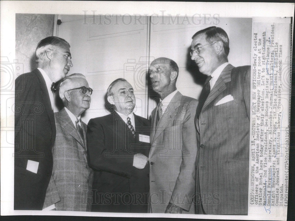
[[(199, 101), (176, 89), (173, 60), (150, 64), (151, 121), (133, 113), (132, 85), (119, 78), (107, 89), (112, 113), (86, 126), (92, 89), (82, 74), (65, 77), (69, 48), (41, 40), (38, 68), (16, 79), (14, 209), (248, 213), (250, 66), (228, 64), (223, 29), (192, 37), (191, 59), (208, 76)], [(53, 114), (57, 82), (64, 108)]]

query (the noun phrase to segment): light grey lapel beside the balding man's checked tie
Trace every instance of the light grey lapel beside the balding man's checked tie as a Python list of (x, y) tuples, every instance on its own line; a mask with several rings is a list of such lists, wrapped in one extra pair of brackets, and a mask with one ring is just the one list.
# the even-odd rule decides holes
[[(165, 130), (166, 127), (168, 127), (168, 120), (173, 118), (178, 113), (178, 107), (180, 105), (181, 97), (182, 97), (182, 94), (180, 92), (177, 92), (171, 99), (163, 116), (161, 117), (158, 124), (156, 125), (153, 141), (159, 137), (159, 135)], [(154, 118), (156, 117), (158, 116), (156, 115)]]

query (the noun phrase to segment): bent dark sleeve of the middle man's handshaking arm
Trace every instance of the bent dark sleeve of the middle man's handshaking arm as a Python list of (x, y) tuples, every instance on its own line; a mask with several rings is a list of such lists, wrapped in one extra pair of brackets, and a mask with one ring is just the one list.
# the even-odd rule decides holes
[(133, 171), (133, 154), (128, 156), (106, 156), (104, 130), (101, 124), (92, 119), (87, 126), (87, 152), (89, 167), (119, 176), (130, 178)]

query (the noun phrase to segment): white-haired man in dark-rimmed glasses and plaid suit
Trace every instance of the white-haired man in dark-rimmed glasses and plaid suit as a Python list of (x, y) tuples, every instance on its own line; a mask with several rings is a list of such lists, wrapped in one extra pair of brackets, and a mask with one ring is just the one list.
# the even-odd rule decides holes
[(81, 120), (91, 94), (83, 74), (71, 74), (60, 83), (59, 96), (65, 107), (55, 113), (53, 171), (43, 208), (91, 211), (93, 170), (87, 163), (87, 126)]

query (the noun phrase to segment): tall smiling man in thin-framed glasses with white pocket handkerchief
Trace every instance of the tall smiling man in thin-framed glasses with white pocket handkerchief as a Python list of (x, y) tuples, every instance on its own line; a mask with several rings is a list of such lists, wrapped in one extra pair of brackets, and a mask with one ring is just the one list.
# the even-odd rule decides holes
[(192, 37), (191, 59), (207, 75), (196, 110), (196, 207), (199, 214), (248, 214), (250, 66), (228, 63), (219, 27)]

